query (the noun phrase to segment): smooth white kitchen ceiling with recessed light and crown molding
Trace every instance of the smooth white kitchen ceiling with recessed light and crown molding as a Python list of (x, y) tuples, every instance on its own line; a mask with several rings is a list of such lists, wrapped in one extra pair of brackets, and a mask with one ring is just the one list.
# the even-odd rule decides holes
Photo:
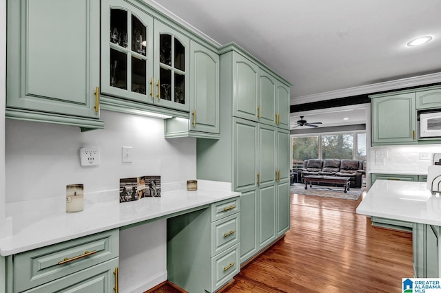
[[(293, 84), (291, 105), (310, 95), (441, 72), (440, 0), (154, 2), (278, 72)], [(407, 47), (428, 34), (431, 43)]]

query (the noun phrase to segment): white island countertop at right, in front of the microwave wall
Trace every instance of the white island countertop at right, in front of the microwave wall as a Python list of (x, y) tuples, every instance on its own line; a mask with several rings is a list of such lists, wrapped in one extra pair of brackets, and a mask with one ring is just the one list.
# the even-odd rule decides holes
[(356, 213), (441, 226), (441, 197), (426, 182), (376, 180)]

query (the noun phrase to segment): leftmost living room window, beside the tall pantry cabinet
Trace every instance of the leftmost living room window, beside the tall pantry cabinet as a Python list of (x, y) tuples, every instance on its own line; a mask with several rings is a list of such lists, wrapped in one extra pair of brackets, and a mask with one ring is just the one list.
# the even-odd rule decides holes
[(318, 135), (292, 138), (292, 168), (303, 166), (303, 160), (318, 158)]

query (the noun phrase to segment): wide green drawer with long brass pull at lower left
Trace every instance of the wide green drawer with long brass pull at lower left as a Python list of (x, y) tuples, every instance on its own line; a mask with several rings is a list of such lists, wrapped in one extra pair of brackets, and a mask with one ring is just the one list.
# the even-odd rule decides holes
[(14, 255), (14, 292), (21, 292), (119, 256), (119, 230)]

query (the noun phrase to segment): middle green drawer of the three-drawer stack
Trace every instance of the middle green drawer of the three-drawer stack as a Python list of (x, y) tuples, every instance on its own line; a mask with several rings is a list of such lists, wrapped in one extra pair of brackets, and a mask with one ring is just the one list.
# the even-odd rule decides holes
[(239, 213), (212, 223), (212, 257), (239, 242)]

